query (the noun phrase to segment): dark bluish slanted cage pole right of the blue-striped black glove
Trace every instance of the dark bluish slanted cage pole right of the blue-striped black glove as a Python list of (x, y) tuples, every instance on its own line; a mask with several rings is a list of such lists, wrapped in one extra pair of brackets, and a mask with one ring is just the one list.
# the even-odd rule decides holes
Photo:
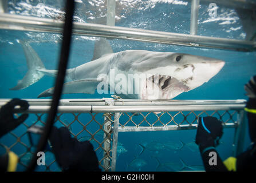
[(245, 141), (246, 134), (246, 112), (244, 110), (240, 110), (238, 113), (238, 124), (235, 129), (234, 136), (234, 150), (233, 156), (236, 157), (238, 154), (243, 152), (243, 145)]

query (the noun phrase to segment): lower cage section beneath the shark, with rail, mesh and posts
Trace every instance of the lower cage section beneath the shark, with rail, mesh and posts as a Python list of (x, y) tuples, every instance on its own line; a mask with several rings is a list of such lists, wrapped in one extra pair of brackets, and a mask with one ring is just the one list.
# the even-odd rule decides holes
[[(9, 99), (1, 99), (0, 106), (6, 104)], [(31, 124), (25, 121), (23, 125), (29, 128), (31, 125), (41, 122), (42, 116), (48, 112), (51, 100), (27, 99), (30, 106), (26, 113), (36, 115), (37, 120)], [(191, 130), (196, 129), (199, 116), (214, 116), (223, 121), (224, 128), (235, 128), (233, 155), (241, 153), (243, 150), (243, 138), (245, 137), (245, 100), (117, 100), (113, 98), (102, 99), (63, 99), (58, 106), (56, 124), (60, 123), (69, 128), (74, 138), (81, 140), (83, 133), (86, 133), (86, 140), (93, 142), (94, 150), (99, 158), (99, 165), (105, 171), (115, 171), (118, 134), (119, 132), (141, 132), (157, 130)], [(21, 112), (18, 107), (17, 113)], [(153, 112), (162, 112), (155, 114)], [(72, 114), (74, 120), (65, 121), (65, 114)], [(83, 115), (86, 117), (82, 118)], [(142, 118), (143, 120), (139, 119)], [(78, 133), (70, 129), (73, 125), (80, 125)], [(90, 125), (97, 125), (97, 130), (91, 132)], [(103, 136), (99, 137), (99, 133)], [(18, 137), (13, 132), (12, 136), (17, 138), (15, 144), (22, 144), (27, 148), (27, 152), (20, 155), (25, 156), (30, 152), (31, 147), (22, 142), (24, 132)], [(0, 143), (7, 151), (14, 145), (7, 147)], [(99, 153), (102, 151), (103, 153)], [(51, 162), (46, 165), (46, 170), (50, 169)], [(26, 166), (19, 161), (20, 164)]]

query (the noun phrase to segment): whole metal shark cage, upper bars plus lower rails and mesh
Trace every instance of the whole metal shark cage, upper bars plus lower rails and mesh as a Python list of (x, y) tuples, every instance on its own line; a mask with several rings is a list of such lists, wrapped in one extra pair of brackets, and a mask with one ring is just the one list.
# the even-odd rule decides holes
[[(1, 29), (61, 33), (63, 21), (9, 14), (6, 12), (6, 2), (0, 1)], [(253, 9), (256, 6), (254, 2), (247, 1), (204, 0), (202, 2), (224, 3), (223, 6), (237, 6), (243, 9)], [(255, 50), (254, 41), (196, 35), (199, 0), (192, 0), (191, 3), (190, 34), (115, 26), (115, 3), (115, 0), (107, 1), (107, 25), (74, 22), (73, 34), (210, 49)], [(0, 106), (9, 100), (1, 99)], [(27, 129), (35, 124), (45, 124), (45, 116), (50, 109), (51, 102), (48, 99), (27, 99), (27, 101), (30, 106), (26, 113), (30, 114), (31, 120), (23, 122), (23, 133), (10, 132), (8, 134), (12, 139), (10, 143), (0, 143), (0, 146), (7, 152), (17, 144), (23, 146), (26, 150), (25, 153), (19, 155), (20, 160), (32, 152), (31, 145), (22, 140), (27, 136)], [(224, 128), (235, 128), (233, 155), (237, 155), (243, 150), (245, 138), (246, 125), (243, 110), (245, 104), (245, 100), (127, 100), (116, 96), (102, 99), (62, 99), (58, 106), (56, 124), (69, 128), (74, 138), (92, 142), (101, 169), (115, 171), (119, 133), (196, 129), (198, 117), (201, 115), (217, 117), (223, 121)], [(156, 114), (155, 112), (162, 113)], [(134, 120), (135, 116), (140, 116), (141, 121)], [(149, 116), (153, 117), (149, 118)], [(66, 118), (72, 120), (66, 120)], [(78, 126), (80, 130), (73, 130), (73, 125)], [(92, 126), (97, 130), (91, 130)], [(51, 166), (55, 161), (53, 158), (46, 162), (45, 170), (54, 171)], [(19, 164), (26, 167), (22, 161), (19, 161)]]

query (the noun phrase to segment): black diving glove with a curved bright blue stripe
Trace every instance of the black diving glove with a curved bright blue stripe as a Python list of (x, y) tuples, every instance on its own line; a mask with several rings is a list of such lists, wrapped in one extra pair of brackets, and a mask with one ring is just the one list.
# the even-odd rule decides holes
[(199, 145), (200, 152), (207, 147), (219, 145), (219, 139), (223, 134), (222, 122), (215, 117), (199, 117), (198, 130), (196, 132), (196, 144)]

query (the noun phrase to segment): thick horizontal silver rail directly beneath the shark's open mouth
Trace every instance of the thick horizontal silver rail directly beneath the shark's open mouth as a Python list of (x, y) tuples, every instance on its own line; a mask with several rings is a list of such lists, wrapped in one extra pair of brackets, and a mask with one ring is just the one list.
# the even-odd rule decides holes
[[(10, 99), (0, 100), (0, 106), (6, 104)], [(30, 105), (29, 109), (26, 113), (47, 113), (50, 109), (50, 100), (42, 100), (42, 105), (40, 105), (40, 100), (28, 100), (29, 104), (33, 104), (37, 102), (37, 105)], [(66, 101), (66, 102), (65, 102)], [(197, 103), (194, 101), (178, 101), (176, 102), (168, 102), (165, 101), (164, 104), (161, 102), (154, 101), (151, 105), (145, 105), (145, 103), (137, 103), (137, 105), (93, 105), (93, 100), (85, 100), (87, 101), (86, 105), (76, 105), (77, 102), (73, 102), (72, 105), (68, 104), (68, 100), (61, 100), (60, 106), (58, 106), (58, 113), (118, 113), (118, 112), (166, 112), (166, 111), (191, 111), (191, 110), (242, 110), (245, 108), (245, 100), (234, 100), (230, 101), (201, 101), (197, 100)], [(98, 102), (102, 102), (102, 100), (96, 100)], [(48, 102), (46, 104), (45, 102)], [(152, 101), (151, 101), (152, 102)], [(187, 102), (187, 103), (186, 103)], [(96, 102), (94, 102), (96, 103)], [(105, 103), (105, 102), (104, 102)], [(133, 103), (136, 103), (136, 100), (133, 100)], [(17, 107), (16, 112), (18, 112), (19, 107)]]

